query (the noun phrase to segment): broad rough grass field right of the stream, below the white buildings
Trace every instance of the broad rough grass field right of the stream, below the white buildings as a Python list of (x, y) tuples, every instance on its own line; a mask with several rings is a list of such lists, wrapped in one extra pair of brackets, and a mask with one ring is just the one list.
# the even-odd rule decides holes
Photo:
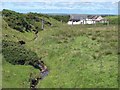
[[(72, 29), (67, 30), (67, 28), (67, 26), (62, 27), (63, 30), (52, 37), (53, 41), (51, 41), (51, 36), (46, 42), (43, 40), (45, 45), (42, 45), (41, 48), (46, 49), (47, 55), (44, 60), (50, 67), (50, 74), (41, 82), (40, 87), (117, 87), (115, 46), (112, 46), (113, 54), (105, 55), (105, 51), (110, 50), (110, 46), (106, 48), (105, 45), (108, 46), (108, 42), (111, 42), (106, 42), (108, 27), (83, 27), (78, 29), (79, 26), (75, 26), (72, 27), (75, 32)], [(116, 32), (115, 29), (112, 29), (112, 33)], [(95, 31), (99, 31), (100, 36), (96, 36)], [(88, 34), (90, 33), (96, 40), (89, 38)], [(69, 35), (71, 35), (70, 38), (68, 38)], [(103, 40), (98, 42), (97, 38), (102, 39), (102, 37)], [(66, 38), (67, 42), (64, 42)], [(59, 40), (61, 41), (60, 44), (58, 43)], [(103, 49), (101, 50), (101, 48)], [(41, 51), (43, 50), (39, 51), (38, 49), (38, 52)]]

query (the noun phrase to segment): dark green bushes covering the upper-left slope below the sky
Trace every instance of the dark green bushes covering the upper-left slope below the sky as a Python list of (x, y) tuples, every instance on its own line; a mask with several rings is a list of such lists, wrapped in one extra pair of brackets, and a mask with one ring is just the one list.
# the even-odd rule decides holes
[[(37, 14), (37, 13), (28, 13), (28, 14), (22, 14), (17, 13), (15, 11), (3, 9), (2, 11), (3, 19), (8, 23), (8, 26), (16, 29), (20, 32), (24, 31), (40, 31), (42, 19), (44, 19), (45, 26), (51, 26), (54, 19), (47, 15), (43, 14)], [(56, 22), (57, 24), (58, 22)]]

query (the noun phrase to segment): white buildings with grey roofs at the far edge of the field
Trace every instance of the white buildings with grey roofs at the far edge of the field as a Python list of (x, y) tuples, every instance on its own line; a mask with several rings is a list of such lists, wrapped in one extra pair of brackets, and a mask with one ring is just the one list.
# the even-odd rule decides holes
[(95, 24), (95, 23), (107, 23), (107, 20), (100, 15), (79, 15), (72, 14), (68, 21), (68, 25), (77, 25), (77, 24)]

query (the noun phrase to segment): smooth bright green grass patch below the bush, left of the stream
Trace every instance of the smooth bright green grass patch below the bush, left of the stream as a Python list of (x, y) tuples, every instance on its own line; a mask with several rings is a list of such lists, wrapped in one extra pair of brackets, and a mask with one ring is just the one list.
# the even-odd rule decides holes
[(26, 88), (29, 87), (30, 73), (37, 73), (32, 66), (11, 65), (7, 62), (3, 64), (3, 88)]

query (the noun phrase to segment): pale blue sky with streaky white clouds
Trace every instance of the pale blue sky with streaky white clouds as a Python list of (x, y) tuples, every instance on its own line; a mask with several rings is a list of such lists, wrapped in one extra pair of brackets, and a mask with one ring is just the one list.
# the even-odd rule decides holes
[(2, 9), (21, 13), (118, 14), (118, 0), (4, 0)]

